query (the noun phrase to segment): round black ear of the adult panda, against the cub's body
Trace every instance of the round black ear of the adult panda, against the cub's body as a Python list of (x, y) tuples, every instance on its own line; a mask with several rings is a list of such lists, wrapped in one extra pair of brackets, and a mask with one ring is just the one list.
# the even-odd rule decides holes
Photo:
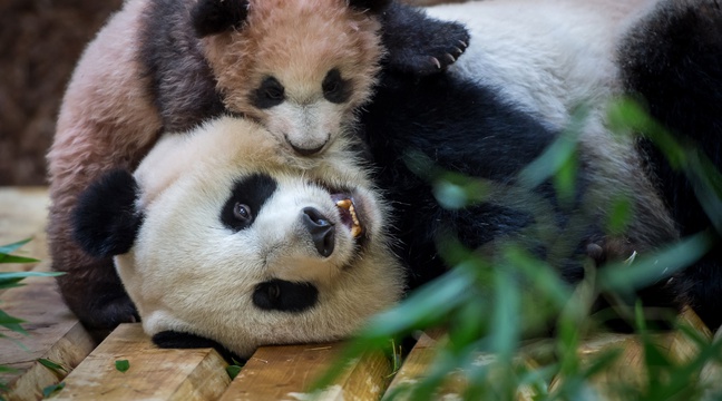
[(124, 169), (104, 174), (78, 197), (72, 236), (95, 257), (120, 255), (133, 247), (143, 223), (135, 209), (138, 183)]

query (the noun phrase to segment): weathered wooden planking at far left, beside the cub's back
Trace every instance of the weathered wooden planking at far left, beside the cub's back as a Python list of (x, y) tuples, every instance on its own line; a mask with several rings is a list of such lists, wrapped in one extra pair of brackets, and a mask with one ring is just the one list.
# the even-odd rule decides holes
[[(0, 188), (0, 244), (32, 237), (13, 254), (43, 260), (41, 263), (2, 264), (0, 271), (49, 270), (45, 233), (48, 204), (43, 187)], [(45, 387), (57, 384), (67, 374), (67, 371), (41, 365), (38, 359), (71, 370), (96, 345), (66, 307), (55, 278), (26, 278), (23, 283), (26, 286), (0, 293), (0, 309), (25, 320), (27, 323), (22, 327), (29, 333), (26, 336), (0, 327), (0, 334), (16, 341), (0, 340), (0, 364), (17, 370), (0, 375), (0, 382), (9, 388), (2, 395), (9, 400), (40, 399)]]

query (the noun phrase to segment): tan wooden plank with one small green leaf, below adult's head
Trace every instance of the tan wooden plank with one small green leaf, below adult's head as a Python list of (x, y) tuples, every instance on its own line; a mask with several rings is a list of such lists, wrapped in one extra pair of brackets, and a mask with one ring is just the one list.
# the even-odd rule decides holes
[[(126, 372), (116, 361), (127, 360)], [(212, 349), (163, 350), (139, 323), (121, 324), (65, 380), (55, 400), (215, 400), (231, 382)]]

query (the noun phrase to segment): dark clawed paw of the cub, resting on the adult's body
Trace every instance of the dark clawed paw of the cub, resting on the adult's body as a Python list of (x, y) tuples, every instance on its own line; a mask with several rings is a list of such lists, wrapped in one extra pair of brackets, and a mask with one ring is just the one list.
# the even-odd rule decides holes
[(419, 8), (394, 1), (380, 17), (384, 66), (391, 70), (419, 77), (440, 72), (469, 46), (464, 25), (430, 18)]

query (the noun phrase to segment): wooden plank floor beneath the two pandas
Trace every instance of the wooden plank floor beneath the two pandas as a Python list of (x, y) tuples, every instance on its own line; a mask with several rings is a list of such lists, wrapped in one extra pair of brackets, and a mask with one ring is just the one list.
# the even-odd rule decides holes
[[(0, 272), (48, 271), (46, 248), (46, 215), (48, 195), (45, 187), (0, 187), (0, 245), (23, 238), (33, 239), (14, 254), (41, 260), (37, 264), (1, 264)], [(32, 277), (26, 286), (0, 290), (0, 310), (20, 317), (29, 335), (23, 336), (0, 327), (0, 365), (13, 368), (0, 372), (0, 383), (8, 390), (0, 398), (37, 400), (42, 390), (64, 383), (52, 395), (57, 400), (303, 400), (315, 378), (331, 366), (342, 343), (267, 346), (256, 351), (231, 380), (227, 363), (211, 349), (160, 350), (143, 333), (139, 324), (124, 324), (100, 344), (66, 309), (50, 277)], [(680, 319), (692, 324), (708, 340), (712, 333), (693, 312)], [(722, 336), (722, 331), (715, 335)], [(334, 384), (319, 399), (379, 400), (391, 389), (413, 382), (431, 366), (435, 344), (443, 341), (440, 330), (422, 334), (394, 372), (391, 361), (382, 354), (369, 353), (349, 365)], [(658, 338), (669, 355), (684, 361), (694, 355), (695, 345), (687, 336), (670, 332)], [(622, 348), (615, 368), (597, 375), (604, 381), (636, 381), (643, 376), (642, 348), (633, 335), (604, 334), (588, 339), (578, 350), (585, 358), (612, 348)], [(488, 356), (488, 355), (486, 355)], [(480, 355), (485, 358), (485, 355)], [(531, 356), (523, 356), (534, 364)], [(46, 359), (60, 364), (62, 370), (46, 368), (38, 362)], [(120, 372), (116, 361), (127, 360), (129, 369)], [(708, 366), (704, 380), (722, 387), (722, 370)], [(550, 387), (554, 387), (554, 380)], [(464, 382), (450, 378), (442, 395), (459, 394)], [(520, 389), (518, 400), (531, 400), (530, 390)]]

